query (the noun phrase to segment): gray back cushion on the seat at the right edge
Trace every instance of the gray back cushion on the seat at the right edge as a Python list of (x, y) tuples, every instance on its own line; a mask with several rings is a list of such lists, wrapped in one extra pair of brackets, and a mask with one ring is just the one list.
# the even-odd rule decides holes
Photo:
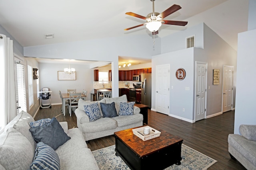
[(256, 125), (240, 125), (240, 134), (250, 141), (256, 141)]

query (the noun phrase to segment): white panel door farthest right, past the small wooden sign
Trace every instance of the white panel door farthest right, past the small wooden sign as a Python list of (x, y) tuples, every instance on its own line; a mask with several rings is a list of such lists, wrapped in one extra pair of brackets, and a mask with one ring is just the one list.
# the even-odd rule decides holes
[(223, 102), (222, 113), (232, 109), (233, 66), (223, 67)]

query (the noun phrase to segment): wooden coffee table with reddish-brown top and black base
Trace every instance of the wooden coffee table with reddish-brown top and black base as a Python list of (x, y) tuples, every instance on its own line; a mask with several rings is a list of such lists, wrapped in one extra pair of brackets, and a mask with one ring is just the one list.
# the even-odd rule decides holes
[(130, 169), (162, 170), (173, 164), (180, 165), (183, 139), (157, 129), (161, 131), (160, 137), (143, 141), (132, 133), (132, 129), (114, 133), (116, 156), (120, 156)]

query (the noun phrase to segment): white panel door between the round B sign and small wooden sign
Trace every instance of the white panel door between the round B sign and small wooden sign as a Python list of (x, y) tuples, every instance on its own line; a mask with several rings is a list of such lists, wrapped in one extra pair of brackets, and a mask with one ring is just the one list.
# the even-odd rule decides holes
[(206, 118), (207, 64), (196, 63), (195, 121)]

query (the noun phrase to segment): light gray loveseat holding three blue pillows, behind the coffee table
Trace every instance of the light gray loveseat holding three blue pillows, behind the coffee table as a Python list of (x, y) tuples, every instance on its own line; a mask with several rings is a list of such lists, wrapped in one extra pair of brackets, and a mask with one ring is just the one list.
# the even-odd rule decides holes
[[(126, 95), (123, 95), (117, 98), (103, 98), (96, 102), (98, 102), (99, 106), (100, 103), (111, 104), (112, 102), (115, 102), (116, 112), (118, 114), (120, 110), (120, 102), (127, 103), (127, 97)], [(101, 115), (100, 119), (90, 122), (88, 115), (86, 115), (86, 112), (84, 111), (84, 105), (93, 103), (95, 102), (80, 99), (78, 101), (78, 108), (75, 110), (77, 127), (82, 132), (85, 141), (113, 135), (116, 131), (143, 125), (143, 115), (140, 114), (140, 108), (136, 106), (134, 106), (133, 115), (119, 115), (117, 117), (103, 117), (103, 115)], [(102, 114), (101, 108), (100, 112)]]

